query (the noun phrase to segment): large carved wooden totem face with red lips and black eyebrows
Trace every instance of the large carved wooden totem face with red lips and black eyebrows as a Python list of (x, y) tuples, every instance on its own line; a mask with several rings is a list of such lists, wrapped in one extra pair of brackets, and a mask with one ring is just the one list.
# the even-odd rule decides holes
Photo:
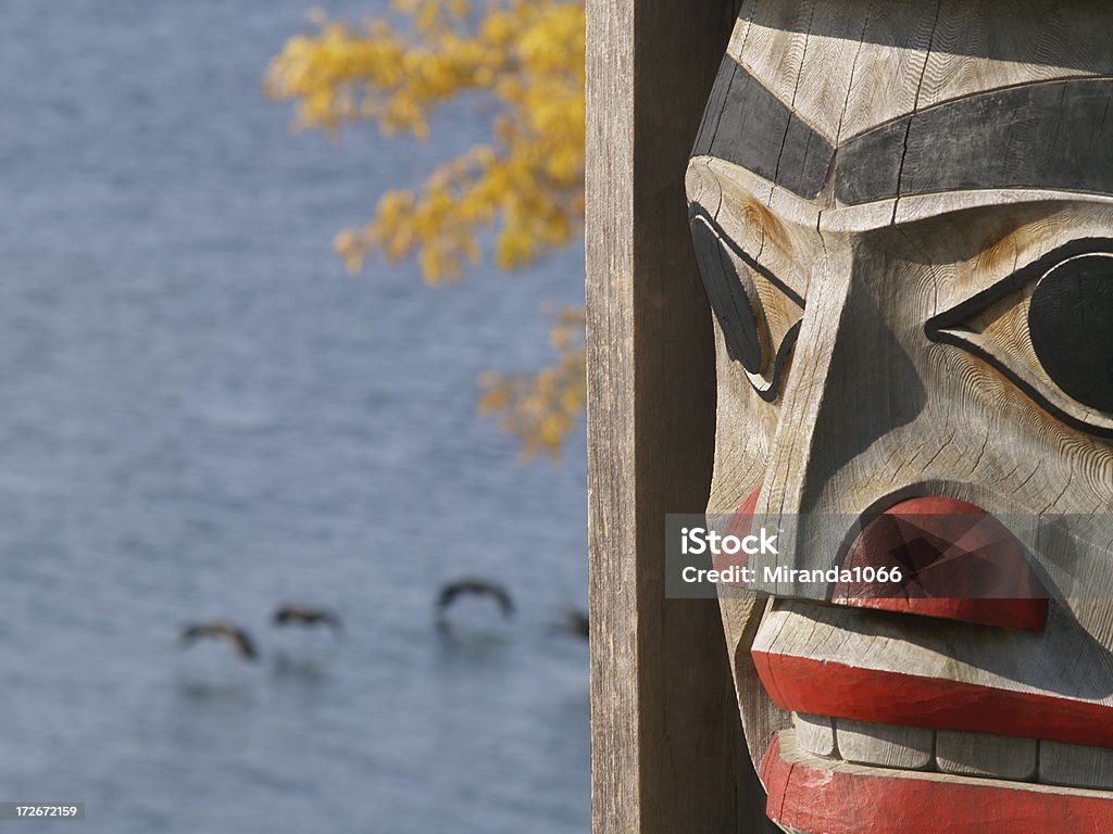
[(1113, 831), (1111, 32), (1092, 2), (742, 8), (687, 179), (709, 512), (1035, 519), (1052, 597), (725, 598), (786, 830)]

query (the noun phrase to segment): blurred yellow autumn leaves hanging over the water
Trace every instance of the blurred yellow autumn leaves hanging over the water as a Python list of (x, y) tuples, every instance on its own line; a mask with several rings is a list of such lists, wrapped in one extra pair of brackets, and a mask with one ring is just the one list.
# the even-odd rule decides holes
[[(436, 108), (469, 92), (493, 102), (492, 139), (435, 168), (413, 190), (378, 200), (364, 226), (336, 236), (352, 270), (372, 252), (415, 256), (431, 284), (459, 279), (495, 232), (503, 269), (577, 238), (583, 221), (583, 2), (395, 0), (361, 23), (312, 16), (315, 31), (286, 43), (265, 89), (295, 102), (295, 128), (335, 133), (357, 121), (384, 135), (430, 135)], [(535, 376), (485, 374), (481, 410), (501, 415), (526, 456), (556, 456), (583, 406), (583, 311), (552, 330), (554, 365)]]

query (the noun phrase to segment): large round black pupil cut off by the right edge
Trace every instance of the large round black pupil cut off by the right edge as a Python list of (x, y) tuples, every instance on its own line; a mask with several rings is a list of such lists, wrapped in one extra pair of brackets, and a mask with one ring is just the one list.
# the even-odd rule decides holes
[(1085, 406), (1113, 411), (1113, 257), (1072, 258), (1041, 278), (1028, 332), (1060, 388)]

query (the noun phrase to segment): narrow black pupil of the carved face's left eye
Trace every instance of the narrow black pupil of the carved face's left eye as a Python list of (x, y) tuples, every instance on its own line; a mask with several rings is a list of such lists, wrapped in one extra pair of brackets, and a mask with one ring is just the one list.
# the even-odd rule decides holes
[(759, 320), (759, 314), (743, 287), (743, 280), (749, 278), (739, 275), (719, 236), (702, 218), (693, 219), (691, 228), (699, 272), (722, 329), (727, 354), (751, 374), (760, 374), (769, 351), (764, 321)]

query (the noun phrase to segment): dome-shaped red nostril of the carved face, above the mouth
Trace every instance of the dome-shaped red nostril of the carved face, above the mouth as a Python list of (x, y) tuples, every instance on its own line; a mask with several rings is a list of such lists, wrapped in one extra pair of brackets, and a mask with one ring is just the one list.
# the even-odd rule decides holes
[(861, 532), (843, 567), (899, 568), (900, 585), (838, 584), (831, 602), (859, 608), (1043, 631), (1047, 599), (1016, 538), (954, 498), (900, 502)]

